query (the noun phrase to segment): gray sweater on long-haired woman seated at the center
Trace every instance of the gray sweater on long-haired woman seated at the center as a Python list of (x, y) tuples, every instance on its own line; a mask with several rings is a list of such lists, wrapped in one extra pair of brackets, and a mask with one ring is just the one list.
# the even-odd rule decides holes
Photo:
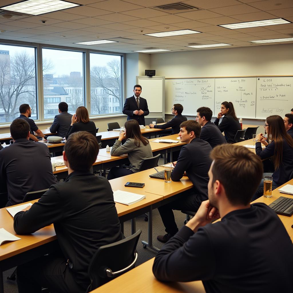
[(130, 161), (130, 170), (132, 172), (138, 172), (143, 159), (147, 159), (153, 156), (151, 151), (151, 145), (148, 143), (146, 146), (140, 142), (140, 146), (134, 143), (134, 138), (129, 138), (121, 145), (120, 140), (116, 140), (111, 150), (111, 156), (121, 156), (128, 154)]

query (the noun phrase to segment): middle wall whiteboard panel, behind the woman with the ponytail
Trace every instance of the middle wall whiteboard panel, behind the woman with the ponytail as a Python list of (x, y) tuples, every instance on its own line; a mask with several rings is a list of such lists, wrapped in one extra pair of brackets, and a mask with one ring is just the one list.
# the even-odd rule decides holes
[(215, 116), (221, 103), (232, 102), (238, 118), (255, 118), (255, 77), (215, 78)]

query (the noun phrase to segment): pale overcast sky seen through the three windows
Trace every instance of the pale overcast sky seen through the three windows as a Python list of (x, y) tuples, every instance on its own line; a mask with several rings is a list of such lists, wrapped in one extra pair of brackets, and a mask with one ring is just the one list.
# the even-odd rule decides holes
[[(9, 55), (13, 56), (16, 52), (20, 50), (25, 50), (31, 56), (34, 56), (35, 50), (30, 47), (20, 47), (11, 45), (0, 45), (0, 50), (9, 51)], [(71, 71), (78, 71), (82, 74), (82, 53), (72, 52), (64, 50), (53, 50), (53, 49), (43, 49), (43, 58), (48, 59), (54, 64), (54, 68), (50, 74), (54, 77), (69, 75)], [(113, 59), (120, 59), (120, 56), (110, 56), (106, 54), (90, 54), (90, 62), (92, 66), (106, 66), (107, 62)]]

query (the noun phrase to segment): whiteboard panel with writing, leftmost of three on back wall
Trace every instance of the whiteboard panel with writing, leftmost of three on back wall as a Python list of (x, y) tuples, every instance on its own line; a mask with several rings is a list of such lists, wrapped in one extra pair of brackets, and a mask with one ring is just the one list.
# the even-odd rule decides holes
[(183, 106), (183, 115), (195, 116), (200, 107), (214, 111), (214, 78), (167, 79), (165, 113), (171, 114), (174, 104)]

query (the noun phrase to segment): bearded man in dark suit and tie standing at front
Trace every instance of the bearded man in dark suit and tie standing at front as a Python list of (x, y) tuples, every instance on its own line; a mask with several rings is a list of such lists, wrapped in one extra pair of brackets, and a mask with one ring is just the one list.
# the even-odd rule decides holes
[(146, 125), (144, 116), (149, 115), (147, 100), (140, 96), (142, 87), (136, 84), (133, 87), (134, 96), (127, 98), (123, 106), (123, 114), (127, 115), (127, 120), (134, 119), (139, 125)]

